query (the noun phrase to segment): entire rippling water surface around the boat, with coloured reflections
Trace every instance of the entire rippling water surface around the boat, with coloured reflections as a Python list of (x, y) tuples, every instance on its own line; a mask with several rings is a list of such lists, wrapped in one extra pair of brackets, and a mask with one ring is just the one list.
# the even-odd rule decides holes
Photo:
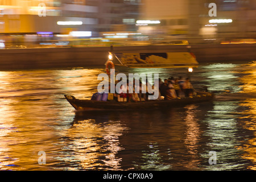
[[(255, 170), (256, 63), (205, 64), (192, 84), (213, 102), (150, 111), (75, 113), (104, 68), (0, 72), (1, 170)], [(187, 77), (187, 69), (119, 69)], [(39, 164), (39, 151), (46, 163)], [(209, 164), (210, 151), (216, 164)]]

